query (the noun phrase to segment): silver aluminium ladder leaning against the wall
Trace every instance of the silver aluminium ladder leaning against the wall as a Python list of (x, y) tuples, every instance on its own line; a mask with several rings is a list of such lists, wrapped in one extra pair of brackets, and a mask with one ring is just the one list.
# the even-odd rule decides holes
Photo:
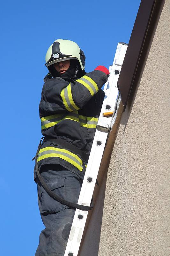
[[(125, 43), (118, 43), (113, 65), (109, 68), (110, 76), (104, 87), (105, 98), (96, 127), (92, 149), (85, 171), (85, 177), (78, 198), (78, 204), (81, 205), (90, 206), (92, 200), (92, 194), (100, 168), (103, 151), (107, 141), (107, 135), (110, 131), (112, 119), (116, 112), (117, 101), (120, 97), (117, 88), (117, 80), (122, 68), (122, 63), (127, 47), (128, 45)], [(107, 117), (103, 116), (103, 113), (107, 112), (113, 112), (113, 115)], [(83, 230), (85, 228), (87, 214), (88, 211), (81, 211), (79, 209), (76, 209), (64, 256), (78, 255), (78, 250), (83, 235)]]

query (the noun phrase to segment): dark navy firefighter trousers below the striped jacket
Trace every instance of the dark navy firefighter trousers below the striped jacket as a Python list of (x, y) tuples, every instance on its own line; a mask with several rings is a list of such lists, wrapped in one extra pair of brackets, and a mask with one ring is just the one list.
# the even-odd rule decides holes
[[(59, 164), (41, 167), (41, 176), (48, 187), (67, 201), (77, 203), (82, 179)], [(75, 209), (51, 198), (37, 178), (38, 204), (45, 229), (41, 231), (35, 256), (63, 256)]]

